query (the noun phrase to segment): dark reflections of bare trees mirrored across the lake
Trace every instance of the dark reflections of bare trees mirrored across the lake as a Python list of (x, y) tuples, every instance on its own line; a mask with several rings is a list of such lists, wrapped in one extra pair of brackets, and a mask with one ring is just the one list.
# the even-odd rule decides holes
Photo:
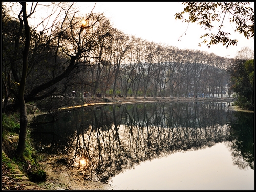
[(107, 182), (140, 162), (218, 142), (229, 142), (234, 164), (254, 169), (253, 115), (229, 111), (226, 103), (90, 106), (58, 118), (33, 127), (36, 148), (65, 155), (89, 180)]

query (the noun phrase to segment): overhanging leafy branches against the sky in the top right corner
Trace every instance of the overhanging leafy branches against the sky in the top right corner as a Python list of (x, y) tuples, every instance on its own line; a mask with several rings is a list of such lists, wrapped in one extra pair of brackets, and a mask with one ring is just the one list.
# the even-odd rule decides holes
[[(175, 14), (175, 19), (180, 19), (187, 23), (198, 22), (198, 24), (211, 31), (215, 29), (215, 22), (218, 22), (218, 32), (206, 33), (200, 36), (204, 39), (202, 43), (215, 45), (222, 43), (223, 46), (237, 45), (237, 39), (231, 39), (231, 33), (224, 31), (224, 20), (229, 19), (234, 23), (234, 32), (243, 34), (246, 39), (254, 37), (254, 10), (250, 7), (250, 2), (183, 2), (186, 7), (184, 11)], [(185, 13), (189, 14), (188, 19), (184, 18)], [(199, 43), (201, 46), (201, 43)]]

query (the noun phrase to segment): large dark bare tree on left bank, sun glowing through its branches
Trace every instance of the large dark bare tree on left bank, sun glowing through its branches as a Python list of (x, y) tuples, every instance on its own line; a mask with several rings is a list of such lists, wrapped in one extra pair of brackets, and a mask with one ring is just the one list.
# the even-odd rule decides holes
[[(32, 3), (29, 14), (26, 11), (26, 3), (20, 3), (20, 5), (22, 5), (18, 17), (20, 29), (24, 26), (25, 30), (18, 31), (18, 36), (13, 40), (18, 45), (17, 51), (24, 46), (23, 65), (19, 65), (19, 62), (11, 62), (11, 76), (9, 77), (13, 79), (9, 79), (9, 84), (6, 84), (17, 98), (15, 103), (8, 105), (9, 110), (20, 108), (20, 139), (16, 150), (17, 156), (22, 156), (25, 147), (26, 103), (42, 100), (59, 91), (59, 83), (69, 78), (75, 70), (81, 71), (79, 69), (88, 67), (90, 52), (109, 36), (109, 21), (102, 14), (91, 12), (81, 17), (73, 9), (73, 3), (61, 2), (51, 4), (60, 11), (52, 25), (36, 32), (36, 28), (40, 25), (32, 28), (28, 24), (28, 19), (38, 8), (37, 3), (35, 5)], [(47, 21), (47, 19), (42, 20), (41, 24)], [(25, 40), (20, 38), (23, 34)], [(41, 50), (51, 52), (52, 58), (41, 60), (38, 54), (45, 53), (40, 52)], [(52, 70), (48, 68), (38, 70), (41, 64), (47, 62), (51, 62)], [(26, 86), (26, 78), (29, 79), (29, 86)]]

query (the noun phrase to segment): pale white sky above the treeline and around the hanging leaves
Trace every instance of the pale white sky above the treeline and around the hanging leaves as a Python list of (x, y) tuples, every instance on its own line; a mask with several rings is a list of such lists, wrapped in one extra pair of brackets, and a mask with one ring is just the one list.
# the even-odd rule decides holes
[[(91, 11), (94, 4), (95, 2), (77, 2), (81, 13)], [(254, 3), (252, 7), (254, 8)], [(202, 44), (199, 47), (198, 43), (202, 41), (199, 37), (205, 34), (205, 30), (196, 23), (190, 23), (188, 26), (181, 20), (176, 21), (175, 13), (183, 9), (182, 2), (97, 2), (93, 12), (104, 13), (113, 27), (128, 35), (180, 49), (207, 51), (229, 58), (236, 56), (237, 51), (243, 47), (254, 50), (254, 38), (247, 40), (242, 34), (234, 33), (234, 24), (229, 22), (225, 27), (233, 34), (231, 37), (238, 39), (237, 46), (226, 49), (226, 46), (218, 44), (209, 49), (206, 44)]]

